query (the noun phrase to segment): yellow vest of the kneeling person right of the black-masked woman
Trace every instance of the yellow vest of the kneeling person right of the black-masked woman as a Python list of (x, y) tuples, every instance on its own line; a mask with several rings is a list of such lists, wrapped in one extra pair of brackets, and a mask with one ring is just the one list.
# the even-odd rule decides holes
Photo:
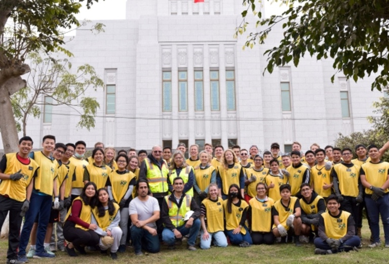
[(267, 198), (267, 201), (260, 202), (256, 197), (249, 201), (251, 206), (251, 230), (253, 232), (271, 232), (271, 223), (273, 216), (271, 215), (271, 207), (274, 205), (274, 200)]

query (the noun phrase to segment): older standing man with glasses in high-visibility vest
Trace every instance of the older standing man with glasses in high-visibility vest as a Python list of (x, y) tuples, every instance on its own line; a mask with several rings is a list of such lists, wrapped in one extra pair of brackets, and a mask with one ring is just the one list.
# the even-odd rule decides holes
[[(160, 208), (162, 208), (164, 197), (168, 195), (169, 191), (168, 174), (169, 169), (166, 161), (162, 158), (162, 147), (153, 146), (151, 154), (148, 154), (140, 165), (139, 179), (148, 181), (151, 195), (158, 200)], [(157, 220), (156, 224), (157, 233), (161, 236), (162, 230), (164, 229), (162, 220)]]

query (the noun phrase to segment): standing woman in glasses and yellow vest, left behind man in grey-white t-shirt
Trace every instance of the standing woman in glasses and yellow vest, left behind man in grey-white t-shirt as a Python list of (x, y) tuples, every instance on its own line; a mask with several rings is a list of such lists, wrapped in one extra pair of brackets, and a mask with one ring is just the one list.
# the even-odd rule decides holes
[(119, 154), (116, 157), (118, 170), (115, 170), (109, 175), (108, 194), (109, 199), (120, 206), (120, 223), (123, 236), (120, 240), (118, 251), (123, 253), (126, 251), (126, 238), (128, 234), (128, 207), (132, 200), (132, 192), (136, 184), (136, 176), (132, 172), (126, 170), (128, 156)]

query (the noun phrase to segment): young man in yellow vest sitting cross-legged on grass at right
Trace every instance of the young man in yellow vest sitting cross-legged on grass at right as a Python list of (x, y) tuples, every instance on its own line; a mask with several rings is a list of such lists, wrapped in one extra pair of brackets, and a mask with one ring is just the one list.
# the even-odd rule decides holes
[(314, 241), (315, 254), (357, 250), (361, 244), (361, 239), (355, 235), (353, 216), (339, 208), (340, 203), (336, 195), (330, 195), (327, 201), (328, 211), (320, 216), (319, 237)]

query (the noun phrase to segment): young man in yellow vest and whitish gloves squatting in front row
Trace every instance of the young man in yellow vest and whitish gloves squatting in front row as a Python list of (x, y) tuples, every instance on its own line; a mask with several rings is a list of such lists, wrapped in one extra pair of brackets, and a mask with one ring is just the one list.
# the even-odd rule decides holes
[[(289, 184), (280, 186), (281, 199), (274, 203), (273, 234), (276, 237), (294, 235), (296, 246), (301, 246), (299, 237), (301, 232), (301, 208), (297, 197), (290, 196), (291, 187)], [(289, 234), (288, 234), (289, 233)]]

